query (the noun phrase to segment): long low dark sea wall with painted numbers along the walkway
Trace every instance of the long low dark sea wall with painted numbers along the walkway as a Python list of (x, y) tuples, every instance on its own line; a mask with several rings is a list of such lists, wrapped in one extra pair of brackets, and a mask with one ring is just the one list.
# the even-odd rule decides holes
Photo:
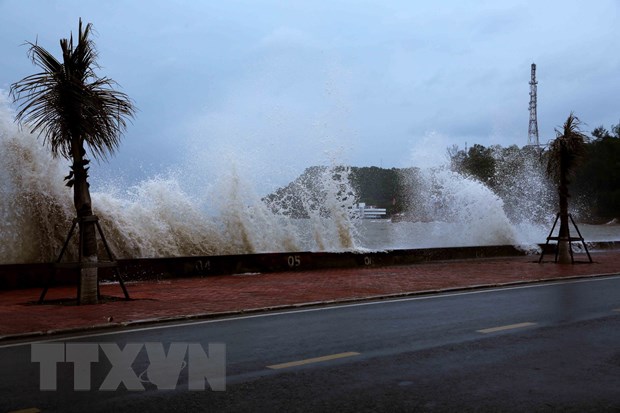
[[(544, 245), (540, 245), (541, 248)], [(553, 260), (553, 245), (546, 254)], [(620, 242), (589, 243), (593, 250), (620, 248)], [(432, 261), (525, 256), (512, 245), (403, 249), (381, 252), (294, 252), (171, 258), (119, 259), (118, 270), (125, 281), (204, 277), (243, 273), (310, 271), (330, 268), (373, 268)], [(576, 259), (582, 254), (576, 253)], [(583, 254), (585, 256), (585, 254)], [(532, 255), (532, 261), (539, 255)], [(547, 258), (546, 258), (547, 259)], [(52, 263), (0, 265), (0, 290), (43, 287), (53, 274), (53, 285), (77, 283), (77, 271)], [(113, 280), (114, 268), (100, 268), (101, 280)]]

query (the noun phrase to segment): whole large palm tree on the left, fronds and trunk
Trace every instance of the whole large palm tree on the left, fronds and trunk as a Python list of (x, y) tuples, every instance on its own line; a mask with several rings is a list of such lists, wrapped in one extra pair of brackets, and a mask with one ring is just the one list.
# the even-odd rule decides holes
[[(93, 158), (106, 160), (118, 148), (126, 119), (132, 118), (135, 110), (127, 95), (113, 89), (113, 80), (95, 74), (99, 66), (89, 38), (91, 27), (90, 23), (82, 27), (80, 19), (77, 43), (73, 43), (73, 34), (60, 40), (62, 61), (37, 43), (27, 42), (29, 58), (42, 71), (12, 84), (11, 96), (21, 101), (17, 121), (43, 135), (54, 156), (72, 162), (65, 180), (73, 187), (82, 256), (85, 262), (96, 263), (95, 223), (83, 220), (93, 215), (85, 147)], [(96, 266), (81, 269), (80, 283), (80, 301), (96, 303)]]

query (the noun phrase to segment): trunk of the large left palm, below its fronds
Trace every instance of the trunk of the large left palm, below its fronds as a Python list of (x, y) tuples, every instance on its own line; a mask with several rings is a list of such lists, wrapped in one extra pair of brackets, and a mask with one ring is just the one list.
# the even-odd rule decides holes
[[(74, 142), (74, 145), (72, 145), (73, 203), (78, 219), (93, 215), (84, 153), (83, 142)], [(98, 272), (96, 264), (98, 258), (95, 222), (80, 220), (79, 225), (82, 262), (87, 265), (86, 268), (80, 268), (80, 303), (97, 304)]]

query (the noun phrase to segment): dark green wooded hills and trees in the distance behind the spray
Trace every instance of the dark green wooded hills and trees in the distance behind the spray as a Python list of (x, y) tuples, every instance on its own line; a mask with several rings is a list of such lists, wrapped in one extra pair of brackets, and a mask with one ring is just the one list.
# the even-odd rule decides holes
[[(580, 219), (603, 222), (620, 217), (620, 123), (611, 131), (594, 129), (587, 143), (586, 157), (569, 185), (571, 209), (578, 209)], [(516, 215), (511, 208), (519, 208), (519, 199), (531, 197), (531, 186), (542, 186), (538, 192), (545, 214), (555, 214), (557, 189), (547, 178), (544, 148), (516, 145), (502, 147), (473, 145), (460, 149), (447, 149), (449, 167), (454, 172), (477, 179), (504, 200), (509, 216)], [(412, 211), (415, 204), (418, 168), (384, 169), (371, 167), (313, 166), (304, 171), (286, 187), (265, 197), (265, 201), (278, 210), (296, 218), (307, 217), (309, 208), (321, 209), (327, 191), (326, 182), (335, 182), (339, 196), (349, 201), (365, 202), (386, 208), (388, 216)], [(347, 188), (342, 178), (348, 175), (352, 188)], [(350, 189), (353, 189), (350, 193)], [(326, 214), (328, 212), (325, 212)]]

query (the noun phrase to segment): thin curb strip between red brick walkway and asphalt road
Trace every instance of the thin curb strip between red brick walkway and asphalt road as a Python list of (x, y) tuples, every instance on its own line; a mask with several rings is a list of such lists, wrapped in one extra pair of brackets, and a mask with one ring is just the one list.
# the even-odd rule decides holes
[(567, 281), (567, 280), (571, 281), (571, 280), (589, 279), (589, 278), (603, 278), (603, 277), (612, 277), (612, 276), (617, 276), (617, 275), (620, 275), (620, 273), (614, 272), (614, 273), (601, 273), (601, 274), (588, 274), (588, 275), (571, 275), (567, 277), (539, 278), (539, 279), (534, 279), (534, 280), (509, 281), (509, 282), (504, 282), (504, 283), (475, 284), (475, 285), (468, 285), (468, 286), (461, 286), (461, 287), (448, 287), (448, 288), (438, 288), (438, 289), (432, 289), (432, 290), (407, 291), (407, 292), (401, 292), (401, 293), (380, 294), (380, 295), (372, 295), (372, 296), (365, 296), (365, 297), (352, 297), (352, 298), (343, 298), (343, 299), (334, 299), (334, 300), (312, 301), (312, 302), (305, 302), (305, 303), (273, 305), (273, 306), (268, 306), (268, 307), (250, 308), (250, 309), (242, 309), (242, 310), (155, 317), (155, 318), (147, 318), (147, 319), (141, 319), (141, 320), (130, 320), (130, 321), (124, 321), (124, 322), (119, 322), (119, 323), (110, 322), (106, 324), (94, 324), (94, 325), (89, 325), (89, 326), (69, 327), (69, 328), (53, 329), (53, 330), (47, 330), (47, 331), (31, 331), (31, 332), (25, 332), (25, 333), (7, 334), (7, 335), (0, 336), (0, 343), (8, 342), (8, 341), (20, 341), (20, 340), (25, 340), (25, 339), (34, 338), (34, 337), (44, 337), (46, 339), (52, 339), (52, 337), (60, 336), (60, 335), (84, 333), (84, 332), (89, 332), (89, 331), (95, 332), (95, 331), (108, 330), (112, 328), (132, 328), (132, 327), (138, 327), (138, 326), (148, 326), (148, 325), (163, 324), (167, 322), (184, 321), (184, 320), (185, 321), (207, 320), (207, 319), (230, 317), (230, 316), (235, 316), (235, 315), (240, 315), (240, 314), (260, 314), (260, 313), (290, 310), (290, 309), (296, 309), (296, 308), (311, 308), (311, 307), (358, 303), (358, 302), (366, 302), (366, 301), (380, 301), (380, 300), (389, 300), (393, 298), (427, 296), (427, 295), (435, 295), (435, 294), (453, 293), (453, 292), (459, 292), (459, 291), (484, 290), (484, 289), (491, 289), (491, 288), (497, 288), (497, 287), (512, 287), (512, 286), (520, 286), (520, 285), (528, 285), (528, 284), (553, 283), (553, 282)]

